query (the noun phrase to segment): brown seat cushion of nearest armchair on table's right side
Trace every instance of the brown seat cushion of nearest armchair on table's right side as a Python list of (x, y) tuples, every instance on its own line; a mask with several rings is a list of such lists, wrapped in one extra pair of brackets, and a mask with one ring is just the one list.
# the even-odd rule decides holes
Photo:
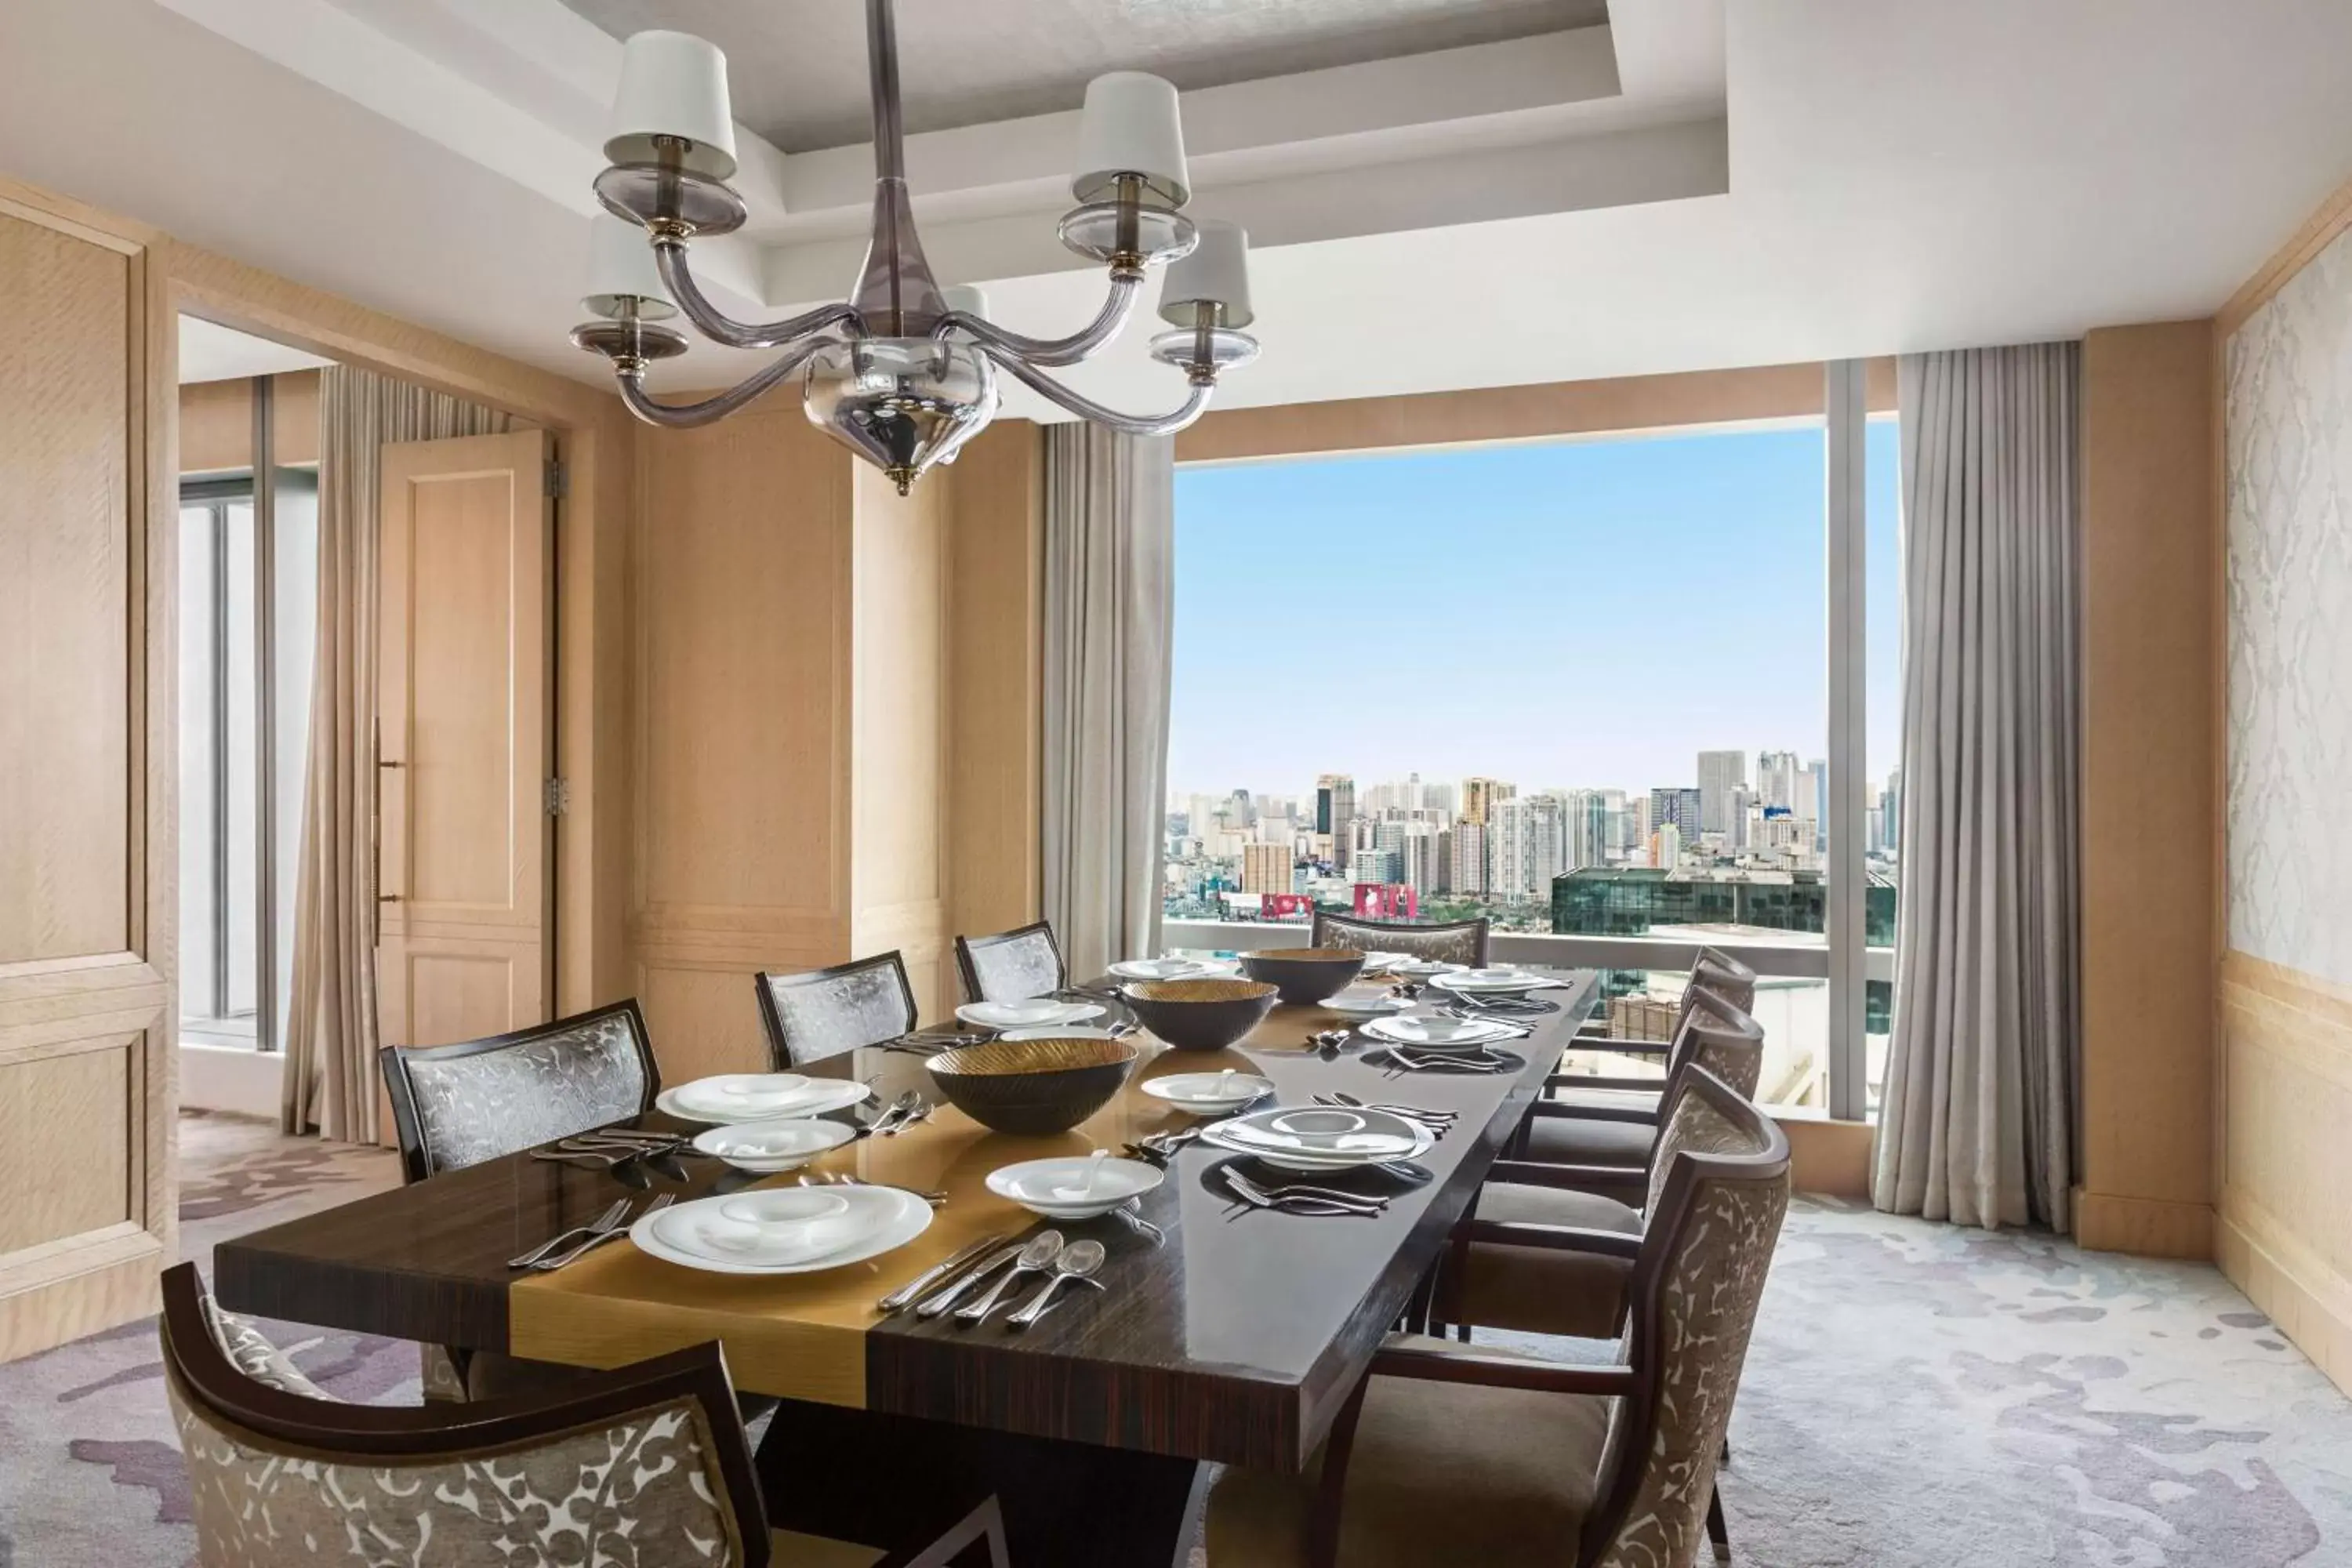
[[(1416, 1349), (1463, 1349), (1397, 1340)], [(1482, 1347), (1479, 1354), (1508, 1354)], [(1345, 1568), (1559, 1568), (1592, 1507), (1609, 1399), (1374, 1378), (1348, 1455)], [(1308, 1561), (1322, 1455), (1301, 1476), (1228, 1469), (1209, 1495), (1209, 1568)]]

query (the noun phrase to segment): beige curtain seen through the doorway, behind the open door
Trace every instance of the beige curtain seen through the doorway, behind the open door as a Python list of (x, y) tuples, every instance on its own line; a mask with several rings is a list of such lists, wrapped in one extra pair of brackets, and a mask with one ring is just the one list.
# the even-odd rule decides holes
[(376, 1140), (376, 454), (510, 418), (341, 364), (320, 374), (318, 663), (280, 1124)]

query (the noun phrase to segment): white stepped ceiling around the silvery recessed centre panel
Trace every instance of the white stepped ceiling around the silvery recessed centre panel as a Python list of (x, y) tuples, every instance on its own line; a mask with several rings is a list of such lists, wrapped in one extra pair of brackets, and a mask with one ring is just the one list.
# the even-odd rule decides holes
[[(2352, 174), (2343, 0), (1613, 0), (1611, 24), (1188, 89), (1197, 209), (1256, 244), (1265, 355), (1221, 400), (2206, 315)], [(0, 172), (597, 378), (564, 329), (616, 61), (560, 0), (7, 0)], [(1028, 331), (1101, 289), (1051, 237), (1073, 125), (908, 148), (934, 263)], [(866, 150), (746, 136), (741, 179), (753, 226), (699, 252), (722, 299), (844, 289)], [(1174, 402), (1129, 336), (1073, 383)], [(696, 348), (668, 386), (741, 369)]]

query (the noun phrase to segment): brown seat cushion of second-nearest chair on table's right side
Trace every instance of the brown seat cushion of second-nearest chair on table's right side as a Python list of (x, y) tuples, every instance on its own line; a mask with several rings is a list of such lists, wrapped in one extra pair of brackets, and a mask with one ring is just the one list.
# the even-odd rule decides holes
[[(1479, 1220), (1573, 1225), (1621, 1237), (1642, 1234), (1642, 1213), (1590, 1192), (1491, 1182), (1477, 1197)], [(1477, 1328), (1517, 1328), (1578, 1340), (1611, 1340), (1625, 1316), (1632, 1262), (1543, 1246), (1472, 1241), (1449, 1314)]]

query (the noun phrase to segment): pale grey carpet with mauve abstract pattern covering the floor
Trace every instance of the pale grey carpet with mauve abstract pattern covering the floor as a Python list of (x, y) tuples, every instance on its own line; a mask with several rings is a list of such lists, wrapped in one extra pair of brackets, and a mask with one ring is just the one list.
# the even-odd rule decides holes
[[(183, 1117), (181, 1159), (205, 1262), (400, 1182), (230, 1117)], [(343, 1399), (416, 1401), (405, 1342), (273, 1333)], [(2213, 1269), (2042, 1234), (1799, 1199), (1731, 1446), (1740, 1568), (2352, 1566), (2352, 1403)], [(0, 1568), (193, 1559), (153, 1324), (0, 1366)]]

